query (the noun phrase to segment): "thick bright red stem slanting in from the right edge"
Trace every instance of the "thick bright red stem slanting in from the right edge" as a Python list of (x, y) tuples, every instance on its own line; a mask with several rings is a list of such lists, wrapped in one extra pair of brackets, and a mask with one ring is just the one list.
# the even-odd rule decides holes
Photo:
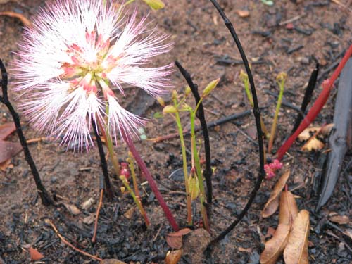
[(282, 144), (282, 146), (277, 151), (278, 160), (282, 160), (284, 154), (289, 150), (292, 144), (294, 144), (294, 141), (296, 140), (298, 135), (301, 134), (301, 132), (305, 130), (311, 122), (315, 120), (318, 113), (320, 113), (322, 107), (325, 105), (327, 99), (329, 98), (329, 94), (332, 91), (332, 85), (334, 84), (337, 77), (339, 77), (341, 70), (344, 68), (345, 64), (348, 61), (348, 58), (350, 58), (351, 55), (352, 45), (349, 46), (348, 50), (346, 51), (346, 54), (344, 55), (344, 58), (341, 59), (339, 66), (337, 66), (336, 70), (334, 70), (334, 73), (332, 73), (332, 77), (322, 83), (322, 92), (318, 96), (318, 99), (315, 100), (313, 106), (310, 108), (310, 111), (306, 115), (306, 118), (304, 118), (304, 120), (301, 122), (301, 125), (299, 125), (294, 134), (292, 134), (291, 137), (289, 137), (289, 139), (287, 139), (287, 141), (284, 142), (284, 144)]

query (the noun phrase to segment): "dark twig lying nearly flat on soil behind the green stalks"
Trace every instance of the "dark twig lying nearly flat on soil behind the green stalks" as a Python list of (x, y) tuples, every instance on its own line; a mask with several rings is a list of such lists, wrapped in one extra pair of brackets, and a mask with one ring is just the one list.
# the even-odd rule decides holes
[[(215, 120), (215, 121), (212, 121), (212, 122), (208, 122), (208, 128), (216, 127), (217, 125), (222, 125), (222, 124), (225, 124), (227, 122), (231, 122), (233, 120), (236, 120), (236, 119), (239, 119), (239, 118), (243, 118), (244, 116), (249, 115), (250, 113), (251, 113), (250, 110), (246, 110), (246, 111), (243, 111), (241, 113), (234, 113), (233, 115), (227, 115), (227, 116), (225, 116), (225, 118), (220, 118), (218, 120)], [(201, 130), (201, 126), (195, 127), (194, 130), (195, 131)], [(183, 130), (184, 137), (188, 136), (189, 134), (191, 134), (191, 130), (187, 130), (187, 129)], [(172, 133), (172, 134), (167, 134), (165, 136), (156, 137), (154, 139), (149, 139), (149, 140), (151, 140), (154, 143), (157, 143), (157, 142), (162, 142), (162, 141), (167, 140), (167, 139), (174, 139), (175, 137), (179, 137), (179, 136), (180, 136), (180, 134), (178, 134), (178, 133)]]

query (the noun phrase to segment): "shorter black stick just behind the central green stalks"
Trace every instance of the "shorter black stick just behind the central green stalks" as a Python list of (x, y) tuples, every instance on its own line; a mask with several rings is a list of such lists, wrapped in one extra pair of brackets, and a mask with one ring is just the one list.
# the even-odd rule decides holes
[[(175, 65), (180, 70), (181, 74), (183, 75), (184, 79), (187, 81), (187, 84), (191, 88), (191, 92), (196, 100), (196, 105), (201, 101), (201, 96), (199, 96), (198, 92), (198, 85), (193, 82), (191, 79), (191, 75), (185, 70), (182, 65), (175, 61)], [(206, 117), (204, 115), (204, 108), (203, 103), (199, 104), (198, 111), (196, 113), (197, 118), (201, 122), (201, 130), (203, 132), (203, 139), (204, 139), (204, 152), (206, 153), (206, 169), (203, 171), (203, 175), (206, 178), (206, 201), (208, 203), (212, 203), (213, 200), (213, 186), (211, 184), (211, 175), (213, 175), (213, 170), (211, 170), (210, 165), (210, 140), (209, 140), (209, 132), (208, 132), (208, 125), (206, 124)]]

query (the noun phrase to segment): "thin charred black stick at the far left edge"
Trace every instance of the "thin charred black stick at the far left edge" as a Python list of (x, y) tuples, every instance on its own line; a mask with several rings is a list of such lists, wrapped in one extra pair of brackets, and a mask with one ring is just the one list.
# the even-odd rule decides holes
[(54, 204), (54, 201), (51, 199), (51, 196), (49, 195), (48, 191), (46, 191), (44, 185), (42, 184), (42, 180), (40, 179), (39, 172), (33, 161), (32, 155), (30, 154), (30, 149), (28, 149), (27, 140), (25, 139), (25, 135), (23, 134), (23, 131), (22, 131), (22, 127), (20, 124), (20, 116), (15, 111), (15, 108), (13, 108), (11, 102), (8, 101), (8, 93), (7, 93), (8, 77), (7, 77), (5, 65), (2, 63), (1, 60), (0, 60), (0, 69), (1, 69), (1, 89), (2, 89), (2, 96), (0, 96), (0, 102), (4, 103), (4, 105), (8, 108), (8, 111), (10, 111), (12, 115), (13, 122), (15, 123), (15, 127), (16, 127), (16, 132), (18, 134), (18, 138), (20, 139), (20, 144), (23, 149), (23, 153), (25, 153), (25, 160), (27, 161), (28, 165), (30, 165), (30, 170), (34, 178), (35, 185), (37, 186), (38, 194), (42, 199), (42, 203), (44, 204), (44, 206), (49, 206), (51, 204)]

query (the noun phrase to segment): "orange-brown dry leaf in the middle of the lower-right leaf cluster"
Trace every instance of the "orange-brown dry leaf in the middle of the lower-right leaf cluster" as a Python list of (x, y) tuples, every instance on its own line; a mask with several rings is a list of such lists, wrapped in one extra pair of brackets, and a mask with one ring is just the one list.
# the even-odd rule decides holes
[(280, 196), (279, 225), (292, 225), (298, 215), (296, 199), (291, 191), (283, 191)]

